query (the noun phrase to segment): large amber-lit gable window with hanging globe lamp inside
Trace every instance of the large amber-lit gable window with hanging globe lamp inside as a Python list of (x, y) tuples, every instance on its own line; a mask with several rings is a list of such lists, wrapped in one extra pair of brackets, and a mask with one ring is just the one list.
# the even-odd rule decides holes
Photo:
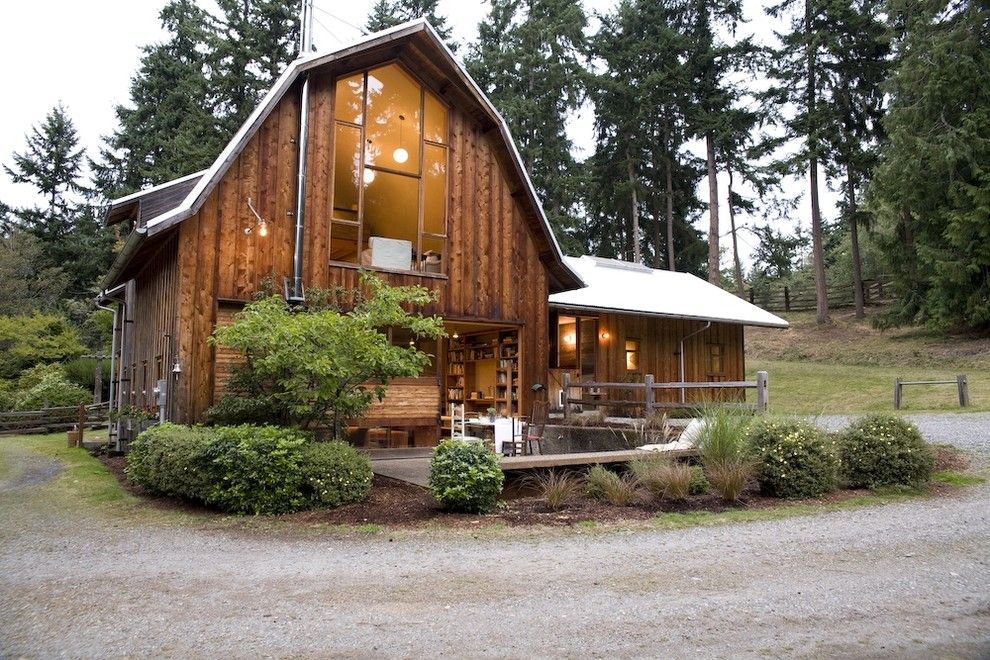
[(330, 260), (446, 272), (447, 109), (398, 64), (339, 78)]

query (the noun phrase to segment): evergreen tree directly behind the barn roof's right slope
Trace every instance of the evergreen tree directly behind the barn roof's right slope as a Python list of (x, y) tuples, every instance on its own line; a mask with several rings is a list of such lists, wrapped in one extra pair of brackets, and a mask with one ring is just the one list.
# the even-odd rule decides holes
[(570, 250), (577, 247), (580, 168), (566, 124), (584, 93), (586, 23), (570, 0), (493, 0), (466, 62), (508, 122), (547, 217)]

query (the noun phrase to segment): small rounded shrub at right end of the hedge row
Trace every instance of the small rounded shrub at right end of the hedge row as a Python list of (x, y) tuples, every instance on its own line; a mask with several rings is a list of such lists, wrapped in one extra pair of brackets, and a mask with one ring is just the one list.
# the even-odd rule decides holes
[(373, 476), (368, 457), (343, 442), (314, 442), (303, 450), (303, 492), (314, 507), (360, 502)]

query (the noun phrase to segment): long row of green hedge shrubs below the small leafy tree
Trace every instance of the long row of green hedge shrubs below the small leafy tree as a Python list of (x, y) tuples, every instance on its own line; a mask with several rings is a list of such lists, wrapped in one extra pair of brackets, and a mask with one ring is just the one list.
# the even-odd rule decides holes
[(152, 493), (269, 515), (356, 502), (371, 485), (354, 449), (274, 426), (160, 424), (131, 443), (127, 474)]

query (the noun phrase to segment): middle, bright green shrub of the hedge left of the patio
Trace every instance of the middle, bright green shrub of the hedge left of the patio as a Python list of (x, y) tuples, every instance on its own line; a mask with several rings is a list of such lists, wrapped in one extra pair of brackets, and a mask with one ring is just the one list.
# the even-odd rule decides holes
[(277, 514), (303, 507), (303, 433), (275, 426), (216, 426), (207, 448), (217, 475), (207, 501), (232, 513)]

